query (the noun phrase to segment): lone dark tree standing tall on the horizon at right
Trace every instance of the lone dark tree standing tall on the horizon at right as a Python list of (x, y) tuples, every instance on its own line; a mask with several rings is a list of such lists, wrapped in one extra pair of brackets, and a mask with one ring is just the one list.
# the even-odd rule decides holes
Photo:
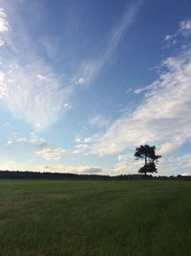
[(151, 147), (149, 145), (141, 145), (136, 148), (136, 152), (134, 154), (137, 157), (136, 159), (144, 158), (144, 166), (138, 170), (138, 173), (144, 174), (145, 178), (147, 173), (158, 173), (156, 165), (159, 163), (161, 155), (156, 155), (155, 151), (156, 147)]

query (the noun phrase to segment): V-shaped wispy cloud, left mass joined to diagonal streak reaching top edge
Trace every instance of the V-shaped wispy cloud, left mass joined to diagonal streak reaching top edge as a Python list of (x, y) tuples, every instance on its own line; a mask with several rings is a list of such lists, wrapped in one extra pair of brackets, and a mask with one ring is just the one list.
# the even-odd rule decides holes
[[(71, 96), (76, 88), (96, 79), (108, 58), (113, 55), (122, 36), (136, 20), (142, 2), (138, 1), (126, 7), (116, 28), (112, 29), (108, 36), (106, 48), (97, 53), (96, 58), (90, 56), (82, 58), (83, 60), (77, 59), (79, 68), (74, 69), (73, 74), (64, 76), (60, 76), (52, 63), (45, 60), (28, 31), (27, 22), (19, 13), (12, 12), (9, 21), (6, 11), (1, 9), (0, 29), (8, 37), (8, 40), (1, 38), (2, 105), (7, 107), (14, 117), (32, 124), (34, 128), (51, 126), (69, 109), (64, 106), (71, 105)], [(7, 7), (13, 9), (14, 5)], [(19, 22), (14, 23), (14, 20)], [(43, 43), (40, 47), (43, 48)], [(74, 60), (76, 62), (76, 59)]]

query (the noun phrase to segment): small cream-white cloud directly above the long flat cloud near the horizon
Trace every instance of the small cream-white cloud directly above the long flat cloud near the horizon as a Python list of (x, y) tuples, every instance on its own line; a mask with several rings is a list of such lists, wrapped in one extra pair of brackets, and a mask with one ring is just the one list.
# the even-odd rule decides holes
[(43, 149), (40, 151), (36, 151), (38, 155), (42, 156), (46, 160), (60, 160), (61, 156), (66, 152), (66, 150), (62, 148), (55, 148), (55, 149)]

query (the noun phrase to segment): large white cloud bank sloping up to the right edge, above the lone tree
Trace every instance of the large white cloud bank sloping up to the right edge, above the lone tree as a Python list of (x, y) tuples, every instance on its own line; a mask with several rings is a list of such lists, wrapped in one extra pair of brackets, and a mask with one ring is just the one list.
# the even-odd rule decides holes
[(159, 79), (149, 85), (137, 109), (118, 118), (97, 140), (92, 151), (117, 153), (145, 143), (163, 145), (163, 152), (179, 148), (191, 138), (190, 81), (190, 49), (166, 58)]

